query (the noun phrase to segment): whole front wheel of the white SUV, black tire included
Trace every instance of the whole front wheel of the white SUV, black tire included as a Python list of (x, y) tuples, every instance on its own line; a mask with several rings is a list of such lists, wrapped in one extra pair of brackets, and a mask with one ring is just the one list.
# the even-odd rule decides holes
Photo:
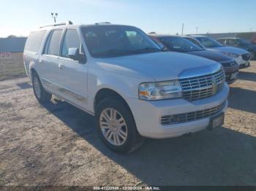
[[(115, 120), (112, 122), (110, 120), (111, 111), (116, 111), (116, 119), (118, 119), (116, 124)], [(115, 116), (115, 112), (113, 112), (112, 116)], [(113, 98), (106, 98), (100, 101), (97, 105), (95, 118), (100, 139), (114, 152), (132, 152), (143, 143), (143, 138), (138, 133), (132, 113), (122, 101), (113, 100)], [(108, 120), (106, 120), (107, 118)], [(111, 132), (112, 136), (110, 136)]]

